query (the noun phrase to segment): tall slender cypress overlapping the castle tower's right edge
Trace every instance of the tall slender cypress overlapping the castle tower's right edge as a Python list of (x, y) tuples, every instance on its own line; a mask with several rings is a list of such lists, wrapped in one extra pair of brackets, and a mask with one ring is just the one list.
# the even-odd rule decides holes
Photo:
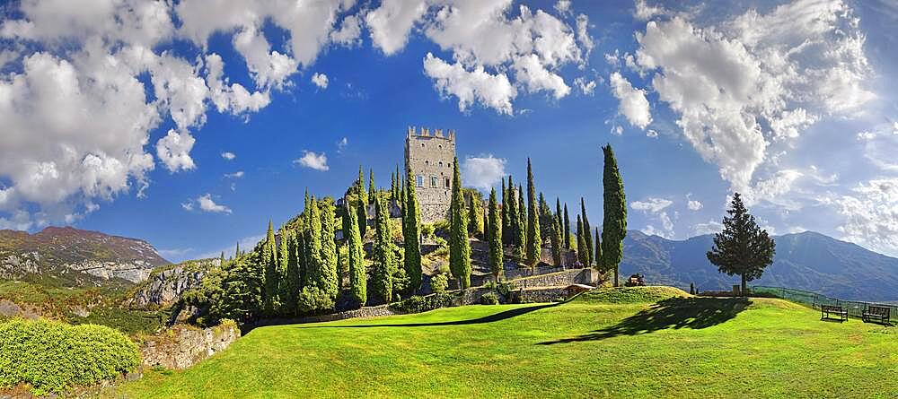
[(462, 289), (471, 286), (471, 243), (468, 242), (468, 214), (464, 212), (462, 174), (458, 157), (453, 160), (452, 202), (449, 204), (449, 270)]

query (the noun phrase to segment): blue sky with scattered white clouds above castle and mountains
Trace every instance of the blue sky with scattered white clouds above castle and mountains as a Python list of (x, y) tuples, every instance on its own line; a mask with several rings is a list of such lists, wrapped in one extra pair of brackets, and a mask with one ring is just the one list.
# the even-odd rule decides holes
[(631, 229), (718, 230), (737, 190), (776, 234), (898, 255), (885, 1), (81, 3), (2, 9), (0, 228), (251, 246), (360, 164), (389, 186), (418, 126), (481, 189), (529, 156), (572, 217), (601, 221), (611, 143)]

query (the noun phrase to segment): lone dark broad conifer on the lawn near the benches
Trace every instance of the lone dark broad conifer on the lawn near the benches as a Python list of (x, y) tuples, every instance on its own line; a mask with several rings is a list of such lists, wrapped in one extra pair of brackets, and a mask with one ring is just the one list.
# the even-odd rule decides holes
[(724, 230), (714, 235), (714, 247), (707, 256), (720, 273), (739, 275), (746, 295), (748, 282), (761, 278), (764, 268), (773, 263), (776, 243), (748, 213), (739, 193), (733, 195), (726, 213), (729, 216), (724, 217)]

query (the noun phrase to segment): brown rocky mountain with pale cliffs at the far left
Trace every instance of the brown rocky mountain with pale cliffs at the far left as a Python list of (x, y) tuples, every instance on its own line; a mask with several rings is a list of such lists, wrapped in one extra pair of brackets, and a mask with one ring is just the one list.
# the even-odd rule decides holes
[(78, 286), (142, 282), (169, 261), (142, 239), (72, 227), (0, 230), (0, 278)]

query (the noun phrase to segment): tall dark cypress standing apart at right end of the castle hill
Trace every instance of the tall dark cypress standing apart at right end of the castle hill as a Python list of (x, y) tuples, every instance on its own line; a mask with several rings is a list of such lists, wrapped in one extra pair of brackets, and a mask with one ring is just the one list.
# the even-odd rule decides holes
[(627, 198), (623, 193), (623, 180), (614, 159), (612, 145), (602, 147), (604, 170), (602, 176), (604, 220), (602, 223), (602, 265), (614, 269), (614, 285), (618, 286), (618, 265), (623, 258), (623, 238), (627, 235)]

